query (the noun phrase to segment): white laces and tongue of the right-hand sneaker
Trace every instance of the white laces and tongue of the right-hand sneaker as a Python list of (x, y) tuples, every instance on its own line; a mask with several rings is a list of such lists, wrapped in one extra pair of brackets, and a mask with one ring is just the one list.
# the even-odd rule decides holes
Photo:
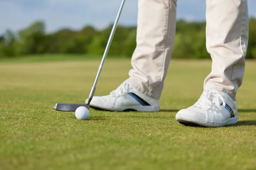
[[(221, 103), (223, 103), (222, 106)], [(202, 95), (198, 99), (198, 102), (195, 103), (195, 106), (204, 109), (217, 107), (222, 110), (225, 108), (226, 102), (218, 91), (203, 91)]]

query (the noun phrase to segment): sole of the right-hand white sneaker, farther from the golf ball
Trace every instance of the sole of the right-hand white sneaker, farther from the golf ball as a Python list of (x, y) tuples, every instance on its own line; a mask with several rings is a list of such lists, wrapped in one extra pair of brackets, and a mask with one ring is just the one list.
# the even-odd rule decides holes
[(196, 119), (195, 117), (177, 114), (176, 120), (185, 126), (194, 126), (194, 127), (221, 127), (226, 125), (235, 125), (238, 122), (238, 116), (227, 119), (225, 122), (209, 122), (202, 119)]

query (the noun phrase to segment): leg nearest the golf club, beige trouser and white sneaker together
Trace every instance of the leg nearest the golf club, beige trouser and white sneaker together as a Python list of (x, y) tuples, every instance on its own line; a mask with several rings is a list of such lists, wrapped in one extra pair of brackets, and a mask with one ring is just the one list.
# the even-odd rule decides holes
[(176, 29), (176, 0), (138, 0), (137, 46), (129, 78), (90, 106), (111, 111), (159, 111)]

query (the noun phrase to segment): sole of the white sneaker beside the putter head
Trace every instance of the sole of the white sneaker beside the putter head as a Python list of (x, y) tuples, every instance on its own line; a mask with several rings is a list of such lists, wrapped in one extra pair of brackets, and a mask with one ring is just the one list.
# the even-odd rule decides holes
[(134, 106), (134, 107), (129, 107), (129, 108), (118, 108), (115, 107), (113, 109), (108, 109), (108, 108), (99, 108), (98, 106), (93, 106), (90, 105), (90, 108), (93, 108), (98, 111), (117, 111), (117, 112), (157, 112), (160, 111), (160, 108), (157, 106)]

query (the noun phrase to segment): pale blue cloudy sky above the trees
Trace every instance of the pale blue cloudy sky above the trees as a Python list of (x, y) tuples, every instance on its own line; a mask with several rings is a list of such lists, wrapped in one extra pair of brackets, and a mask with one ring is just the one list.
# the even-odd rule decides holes
[[(44, 20), (47, 32), (85, 25), (104, 28), (112, 23), (121, 0), (0, 0), (0, 34), (17, 31), (35, 20)], [(256, 16), (256, 0), (248, 0), (250, 16)], [(205, 20), (205, 0), (178, 0), (177, 18)], [(136, 25), (137, 0), (126, 0), (122, 25)]]

